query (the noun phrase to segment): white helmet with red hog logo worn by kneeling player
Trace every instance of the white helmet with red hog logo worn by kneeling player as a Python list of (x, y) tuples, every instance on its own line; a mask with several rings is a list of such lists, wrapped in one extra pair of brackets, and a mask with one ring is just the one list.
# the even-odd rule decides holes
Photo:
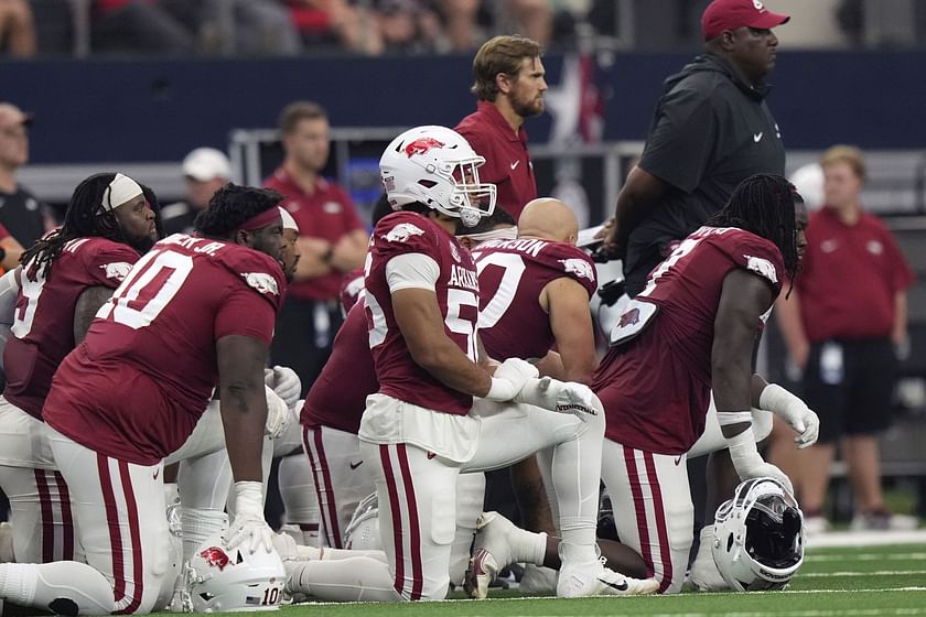
[(495, 209), (495, 185), (480, 182), (483, 163), (456, 131), (426, 126), (392, 140), (379, 159), (379, 174), (392, 209), (420, 202), (474, 227)]

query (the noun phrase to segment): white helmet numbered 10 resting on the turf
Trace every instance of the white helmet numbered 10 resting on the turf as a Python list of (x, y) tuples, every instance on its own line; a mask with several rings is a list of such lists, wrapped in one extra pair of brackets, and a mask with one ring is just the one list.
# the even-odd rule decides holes
[(249, 553), (229, 549), (225, 532), (209, 537), (196, 549), (185, 576), (195, 613), (276, 610), (287, 582), (276, 550)]

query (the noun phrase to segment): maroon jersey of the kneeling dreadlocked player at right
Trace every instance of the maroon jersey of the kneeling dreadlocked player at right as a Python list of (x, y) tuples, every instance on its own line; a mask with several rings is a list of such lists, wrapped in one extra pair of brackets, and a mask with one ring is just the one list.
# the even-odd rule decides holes
[(609, 439), (681, 454), (701, 435), (717, 307), (723, 280), (736, 268), (765, 279), (775, 295), (782, 289), (785, 268), (778, 248), (736, 228), (700, 228), (649, 273), (637, 300), (656, 304), (659, 312), (638, 340), (612, 347), (592, 379), (605, 407)]

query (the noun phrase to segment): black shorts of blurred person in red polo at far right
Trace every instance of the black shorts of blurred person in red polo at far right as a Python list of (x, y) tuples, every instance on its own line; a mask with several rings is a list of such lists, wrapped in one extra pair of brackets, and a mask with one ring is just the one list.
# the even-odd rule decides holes
[(887, 429), (897, 369), (887, 338), (811, 344), (804, 401), (820, 416), (820, 441)]

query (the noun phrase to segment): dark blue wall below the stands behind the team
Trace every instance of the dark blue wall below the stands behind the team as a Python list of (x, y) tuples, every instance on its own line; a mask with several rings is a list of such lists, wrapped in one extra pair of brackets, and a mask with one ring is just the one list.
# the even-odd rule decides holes
[[(605, 138), (643, 139), (663, 79), (690, 58), (617, 54), (599, 67)], [(545, 63), (556, 86), (562, 56)], [(779, 53), (769, 100), (787, 147), (926, 147), (924, 66), (926, 52)], [(7, 61), (0, 100), (35, 112), (34, 163), (168, 161), (224, 147), (232, 128), (271, 127), (300, 98), (338, 127), (453, 126), (474, 108), (470, 72), (469, 56)], [(548, 115), (528, 121), (535, 142), (549, 128)]]

